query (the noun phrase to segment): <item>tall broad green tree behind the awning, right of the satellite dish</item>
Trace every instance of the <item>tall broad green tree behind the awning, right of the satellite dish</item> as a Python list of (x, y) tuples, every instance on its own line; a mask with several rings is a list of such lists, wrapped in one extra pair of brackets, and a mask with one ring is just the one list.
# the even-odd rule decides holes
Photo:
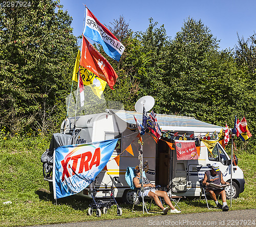
[(197, 116), (207, 114), (206, 88), (212, 75), (212, 55), (218, 40), (201, 20), (188, 18), (168, 49), (164, 84), (166, 113)]

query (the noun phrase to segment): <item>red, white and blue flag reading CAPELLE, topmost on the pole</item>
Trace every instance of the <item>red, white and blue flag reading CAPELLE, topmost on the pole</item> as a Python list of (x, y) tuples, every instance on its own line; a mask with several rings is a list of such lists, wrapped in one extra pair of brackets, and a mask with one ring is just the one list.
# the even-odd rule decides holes
[(124, 45), (86, 8), (86, 25), (83, 35), (102, 45), (104, 52), (116, 61), (124, 52)]

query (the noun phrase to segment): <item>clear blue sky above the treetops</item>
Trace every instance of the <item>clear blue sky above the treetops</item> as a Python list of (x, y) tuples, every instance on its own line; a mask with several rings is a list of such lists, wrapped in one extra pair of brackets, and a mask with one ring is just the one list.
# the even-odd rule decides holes
[(220, 40), (220, 49), (238, 44), (237, 33), (247, 39), (256, 32), (255, 0), (60, 0), (60, 4), (73, 18), (75, 36), (83, 31), (84, 5), (105, 25), (123, 15), (134, 32), (144, 32), (148, 18), (152, 17), (158, 26), (164, 24), (167, 36), (172, 39), (188, 17), (201, 19)]

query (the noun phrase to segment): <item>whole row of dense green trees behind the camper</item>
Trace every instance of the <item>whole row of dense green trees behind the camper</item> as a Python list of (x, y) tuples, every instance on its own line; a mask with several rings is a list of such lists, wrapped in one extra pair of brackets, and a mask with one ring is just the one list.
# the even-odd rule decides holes
[[(71, 17), (52, 0), (0, 10), (2, 135), (56, 130), (66, 116), (78, 48)], [(118, 101), (134, 110), (138, 98), (152, 95), (156, 113), (194, 116), (223, 127), (227, 121), (230, 128), (235, 115), (245, 116), (255, 135), (255, 34), (220, 50), (210, 29), (193, 18), (173, 39), (152, 18), (145, 32), (132, 31), (122, 16), (109, 29), (125, 52), (119, 62), (101, 52), (118, 74), (115, 90), (104, 91), (106, 103)], [(256, 140), (248, 141), (254, 148)]]

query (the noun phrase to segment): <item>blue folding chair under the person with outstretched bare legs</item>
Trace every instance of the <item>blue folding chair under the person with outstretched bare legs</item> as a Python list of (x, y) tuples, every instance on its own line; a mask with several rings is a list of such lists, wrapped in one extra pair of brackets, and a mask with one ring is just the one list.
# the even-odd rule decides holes
[[(134, 184), (133, 184), (133, 179), (134, 179), (135, 176), (136, 176), (136, 174), (135, 174), (135, 172), (134, 172), (134, 169), (135, 169), (135, 167), (127, 167), (126, 172), (125, 172), (125, 180), (126, 180), (127, 184), (130, 186), (130, 188), (131, 188), (132, 190), (136, 191), (136, 196), (135, 196), (134, 199), (133, 199), (133, 201), (134, 201), (134, 203), (133, 203), (133, 209), (134, 209), (134, 205), (136, 204), (137, 198), (139, 197), (139, 191), (140, 191), (140, 189), (135, 188), (135, 186), (134, 186)], [(144, 171), (143, 171), (143, 176), (146, 177)], [(144, 196), (144, 198), (150, 198), (150, 197)], [(147, 212), (147, 210), (150, 210), (151, 204), (152, 204), (152, 202), (153, 202), (153, 200), (154, 200), (154, 199), (152, 199), (152, 198), (150, 198), (150, 199), (151, 199), (150, 206), (149, 206), (148, 209), (147, 209), (147, 208), (146, 208), (146, 205), (145, 205), (145, 203), (144, 203), (144, 200), (143, 200), (143, 198), (142, 198), (142, 203), (143, 203), (143, 206), (144, 206), (145, 209), (146, 209), (146, 212)], [(162, 203), (161, 198), (159, 198), (159, 199), (160, 199), (160, 201), (161, 201), (161, 203)], [(132, 209), (132, 210), (133, 210), (133, 209)], [(148, 212), (147, 212), (147, 213), (148, 213)]]

